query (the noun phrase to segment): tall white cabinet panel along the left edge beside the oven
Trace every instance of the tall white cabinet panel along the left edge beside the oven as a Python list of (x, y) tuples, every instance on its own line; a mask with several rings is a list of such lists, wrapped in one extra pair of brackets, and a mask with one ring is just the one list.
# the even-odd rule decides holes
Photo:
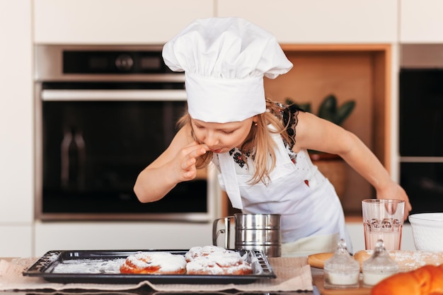
[(30, 0), (0, 1), (0, 226), (33, 221), (31, 20)]

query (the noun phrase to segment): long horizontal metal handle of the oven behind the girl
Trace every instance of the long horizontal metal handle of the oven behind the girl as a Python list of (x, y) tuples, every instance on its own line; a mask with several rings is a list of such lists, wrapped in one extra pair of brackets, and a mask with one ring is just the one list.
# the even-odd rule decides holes
[(113, 90), (74, 90), (74, 89), (44, 89), (42, 90), (42, 100), (71, 101), (71, 100), (186, 100), (184, 89), (166, 90), (133, 90), (133, 89), (113, 89)]

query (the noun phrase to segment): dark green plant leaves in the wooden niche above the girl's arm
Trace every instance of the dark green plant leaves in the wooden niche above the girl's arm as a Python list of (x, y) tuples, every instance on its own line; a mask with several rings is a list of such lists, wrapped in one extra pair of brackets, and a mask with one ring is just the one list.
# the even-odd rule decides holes
[[(306, 110), (306, 112), (312, 112), (311, 103), (295, 103), (291, 98), (286, 98), (285, 103), (298, 105), (299, 108)], [(316, 115), (341, 126), (347, 117), (350, 116), (354, 108), (355, 100), (347, 100), (339, 107), (335, 95), (329, 94), (321, 102)]]

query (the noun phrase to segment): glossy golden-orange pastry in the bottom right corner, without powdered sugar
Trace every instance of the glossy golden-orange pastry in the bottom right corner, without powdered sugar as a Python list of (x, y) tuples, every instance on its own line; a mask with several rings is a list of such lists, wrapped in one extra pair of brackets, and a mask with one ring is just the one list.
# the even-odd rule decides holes
[(443, 294), (443, 265), (425, 265), (410, 272), (393, 274), (371, 290), (371, 295), (437, 294)]

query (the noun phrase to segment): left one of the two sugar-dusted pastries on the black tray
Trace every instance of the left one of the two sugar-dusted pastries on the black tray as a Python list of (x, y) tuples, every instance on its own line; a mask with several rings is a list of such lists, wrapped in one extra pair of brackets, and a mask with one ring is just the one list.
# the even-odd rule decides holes
[(124, 274), (184, 274), (186, 260), (183, 255), (168, 252), (138, 252), (120, 265)]

